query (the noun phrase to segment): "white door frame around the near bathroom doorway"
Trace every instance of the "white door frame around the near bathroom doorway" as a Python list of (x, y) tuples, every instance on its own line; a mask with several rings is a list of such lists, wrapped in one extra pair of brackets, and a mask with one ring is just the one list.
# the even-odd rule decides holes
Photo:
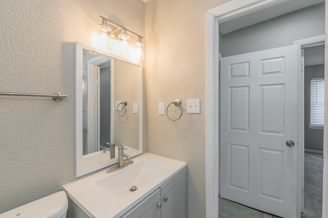
[[(219, 23), (287, 1), (232, 0), (206, 12), (206, 217), (219, 217)], [(325, 141), (328, 134), (324, 133), (324, 135), (323, 147), (326, 151)], [(325, 170), (323, 172), (325, 183), (328, 172)], [(328, 189), (323, 186), (323, 214), (326, 214), (327, 197)], [(300, 199), (298, 199), (299, 206)], [(300, 212), (300, 209), (298, 211)]]

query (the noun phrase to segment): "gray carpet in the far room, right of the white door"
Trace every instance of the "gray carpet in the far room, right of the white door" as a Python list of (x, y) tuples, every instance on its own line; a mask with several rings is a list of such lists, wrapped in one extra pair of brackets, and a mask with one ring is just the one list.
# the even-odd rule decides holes
[(323, 155), (304, 154), (304, 214), (306, 218), (322, 217)]

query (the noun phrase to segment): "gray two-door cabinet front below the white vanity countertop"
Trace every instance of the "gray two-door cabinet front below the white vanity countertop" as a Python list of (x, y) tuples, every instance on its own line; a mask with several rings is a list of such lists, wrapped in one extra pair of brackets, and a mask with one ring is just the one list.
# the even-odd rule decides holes
[(120, 218), (187, 218), (187, 167)]

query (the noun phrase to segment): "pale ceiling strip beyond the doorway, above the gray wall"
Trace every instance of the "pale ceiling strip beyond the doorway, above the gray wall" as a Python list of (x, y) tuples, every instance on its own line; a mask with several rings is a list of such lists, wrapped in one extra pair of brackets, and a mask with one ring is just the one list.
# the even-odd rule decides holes
[(255, 23), (269, 20), (283, 14), (287, 14), (302, 8), (310, 7), (324, 2), (324, 0), (289, 0), (288, 2), (272, 6), (233, 20), (220, 23), (219, 29), (222, 35), (239, 30)]

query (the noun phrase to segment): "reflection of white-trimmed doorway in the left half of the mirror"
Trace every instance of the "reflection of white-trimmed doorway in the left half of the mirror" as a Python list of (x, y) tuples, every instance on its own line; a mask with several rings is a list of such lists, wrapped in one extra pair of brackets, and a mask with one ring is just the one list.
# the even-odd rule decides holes
[(110, 142), (111, 59), (83, 50), (83, 155)]

